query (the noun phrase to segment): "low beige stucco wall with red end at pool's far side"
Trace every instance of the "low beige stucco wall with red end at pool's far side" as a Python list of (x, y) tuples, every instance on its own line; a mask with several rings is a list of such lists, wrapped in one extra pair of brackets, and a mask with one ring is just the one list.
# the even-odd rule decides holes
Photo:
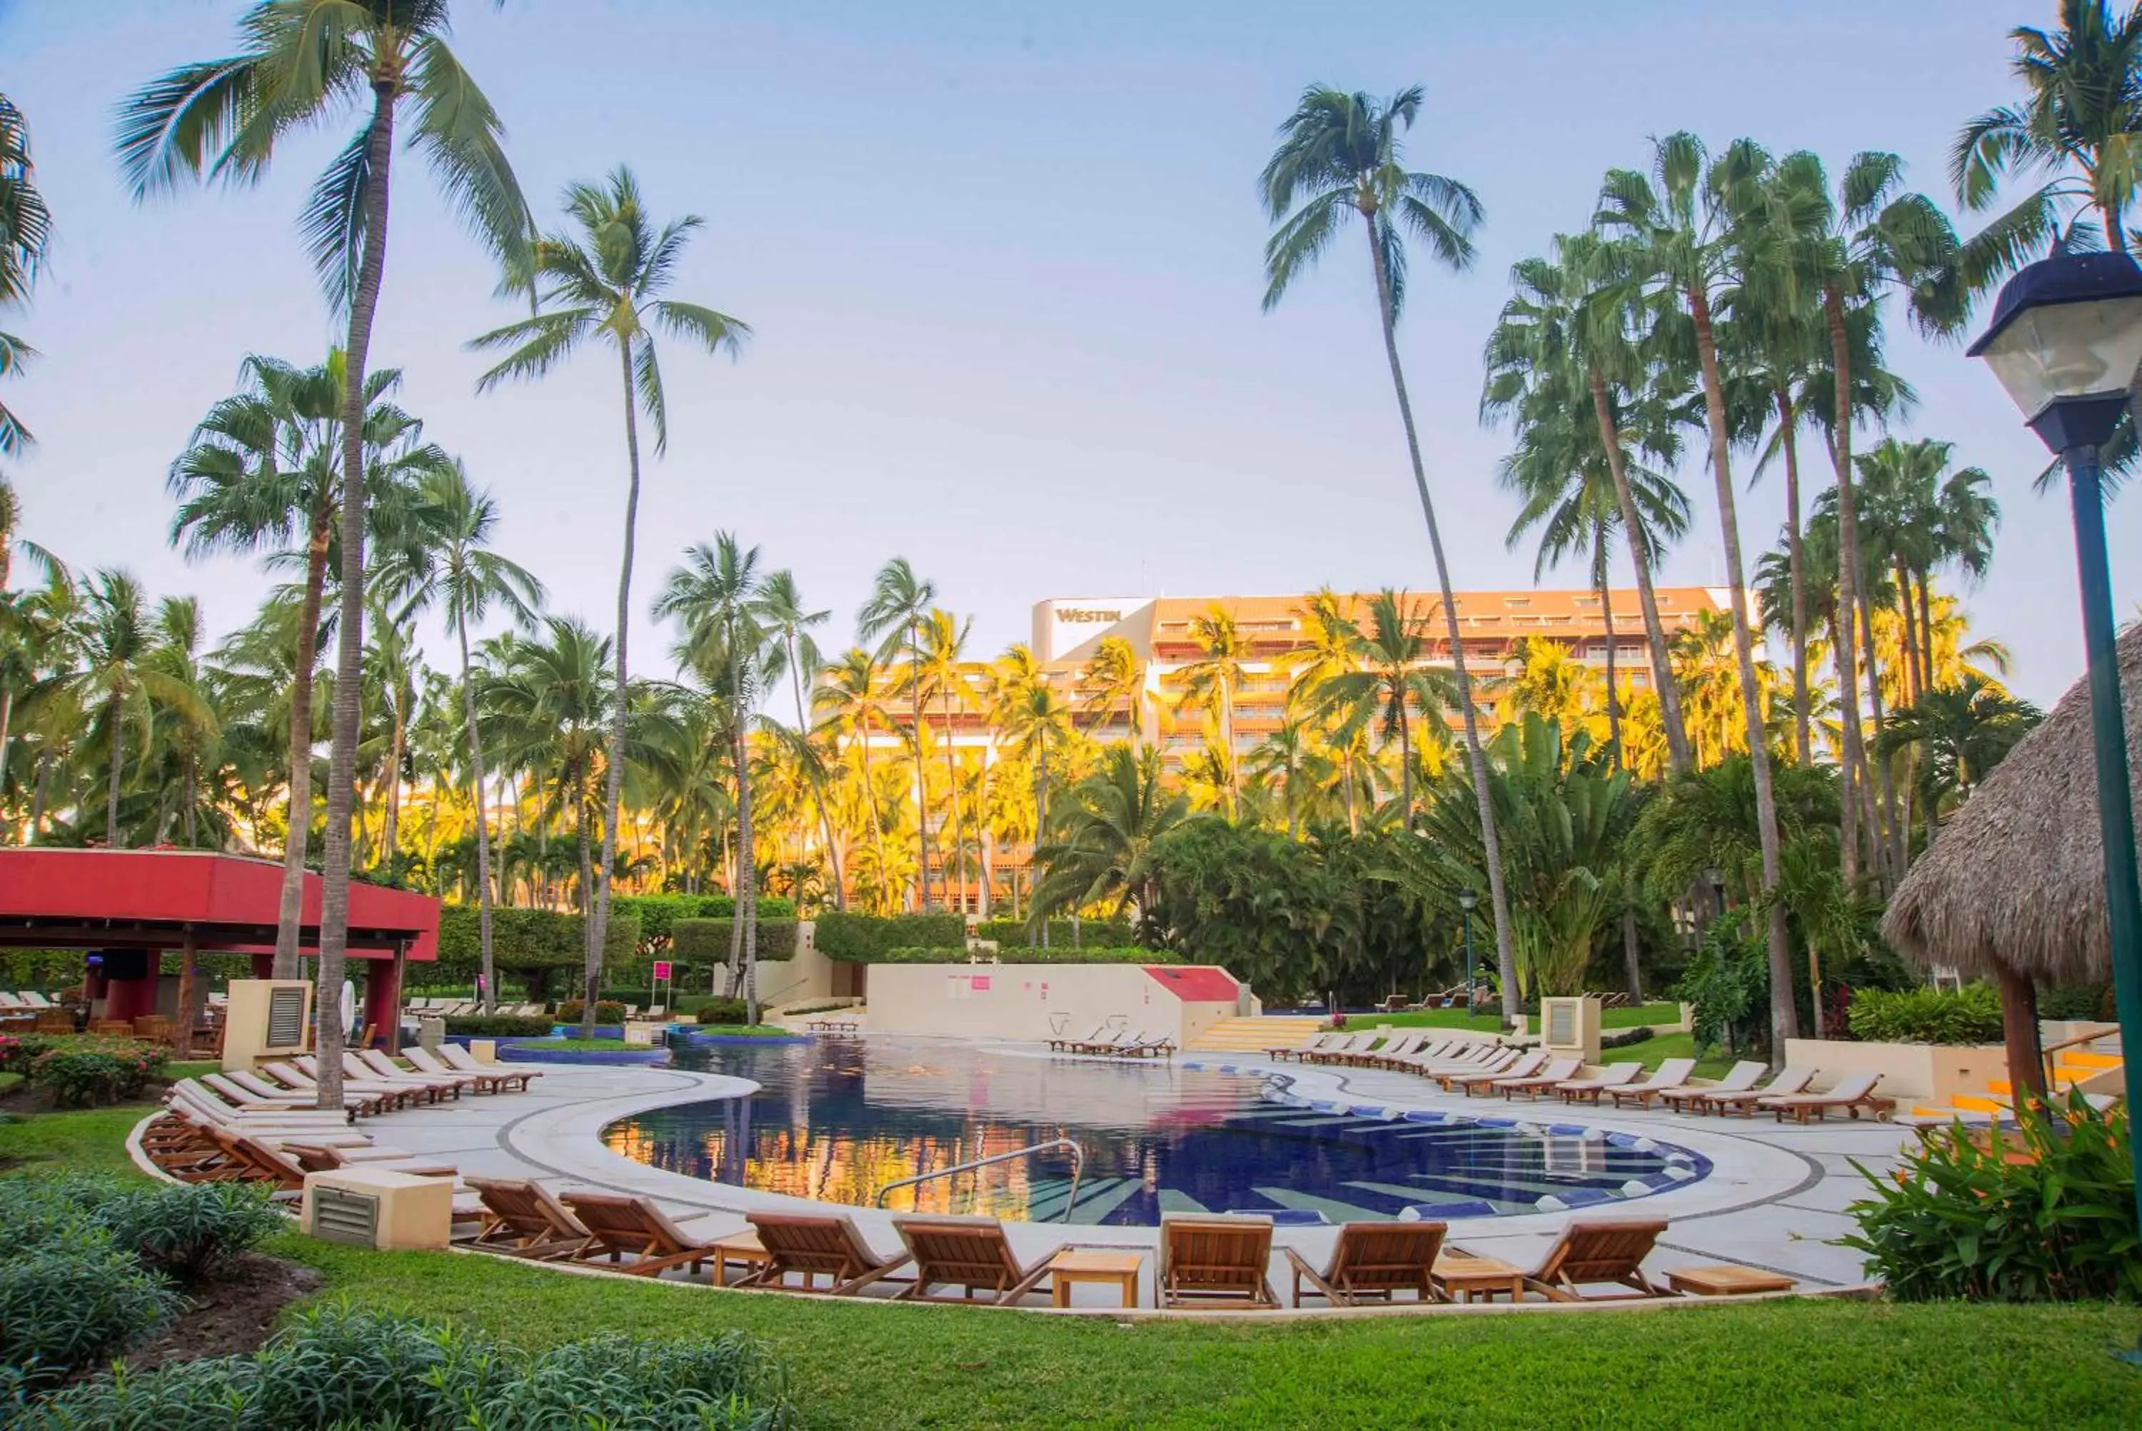
[(1236, 1003), (1187, 1003), (1137, 964), (872, 964), (870, 1028), (968, 1039), (1086, 1039), (1099, 1030), (1176, 1043)]

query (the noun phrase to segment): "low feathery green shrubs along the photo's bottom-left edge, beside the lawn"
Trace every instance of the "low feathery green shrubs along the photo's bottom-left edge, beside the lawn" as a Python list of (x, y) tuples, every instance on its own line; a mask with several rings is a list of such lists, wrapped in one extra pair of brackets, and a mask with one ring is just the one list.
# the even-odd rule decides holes
[(780, 1431), (793, 1420), (780, 1365), (737, 1332), (696, 1343), (604, 1335), (527, 1354), (467, 1328), (328, 1305), (251, 1356), (101, 1375), (28, 1407), (17, 1425)]

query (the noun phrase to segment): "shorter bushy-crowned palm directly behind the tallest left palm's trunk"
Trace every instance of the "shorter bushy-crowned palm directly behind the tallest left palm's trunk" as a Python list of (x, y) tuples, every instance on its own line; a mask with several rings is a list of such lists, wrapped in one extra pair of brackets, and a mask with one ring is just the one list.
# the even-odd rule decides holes
[[(193, 428), (165, 478), (178, 497), (171, 544), (188, 559), (218, 553), (283, 553), (302, 538), (304, 596), (296, 613), (289, 686), (289, 833), (283, 840), (283, 893), (276, 913), (274, 977), (298, 977), (304, 861), (313, 833), (313, 673), (321, 602), (341, 503), (341, 418), (347, 364), (341, 351), (313, 368), (246, 353), (244, 390), (221, 398)], [(362, 450), (371, 538), (388, 536), (381, 491), (437, 471), (448, 456), (424, 441), (424, 424), (388, 398), (401, 368), (364, 379)]]

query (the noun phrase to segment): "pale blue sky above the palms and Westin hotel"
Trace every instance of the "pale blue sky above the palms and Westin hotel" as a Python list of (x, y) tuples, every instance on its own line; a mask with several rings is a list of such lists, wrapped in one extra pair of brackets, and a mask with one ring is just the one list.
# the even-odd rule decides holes
[[(0, 0), (0, 92), (32, 126), (56, 238), (9, 328), (43, 358), (9, 388), (39, 435), (11, 476), (24, 533), (203, 600), (212, 630), (268, 587), (257, 563), (169, 546), (165, 469), (246, 353), (317, 362), (343, 336), (302, 255), (304, 191), (356, 126), (298, 135), (266, 182), (135, 206), (111, 156), (120, 99), (231, 47), (236, 0)], [(692, 542), (730, 529), (831, 611), (887, 557), (972, 617), (970, 653), (1028, 636), (1052, 596), (1427, 589), (1433, 566), (1358, 244), (1270, 315), (1255, 178), (1307, 84), (1427, 90), (1409, 167), (1472, 184), (1472, 272), (1416, 263), (1401, 326), (1452, 581), (1532, 585), (1504, 542), (1506, 431), (1478, 422), (1480, 349), (1514, 261), (1592, 214), (1609, 167), (1675, 129), (1754, 137), (1831, 169), (1894, 150), (1949, 201), (1958, 126), (2013, 94), (2007, 0), (1532, 0), (1523, 6), (1084, 0), (514, 0), (456, 4), (454, 49), (508, 126), (538, 216), (625, 163), (655, 214), (700, 214), (675, 296), (748, 321), (741, 360), (664, 356), (668, 450), (647, 465), (636, 668), (675, 634), (651, 598)], [(1979, 216), (1966, 216), (1975, 227)], [(608, 628), (623, 527), (623, 398), (598, 349), (476, 394), (465, 343), (516, 317), (422, 165), (396, 167), (373, 362), (503, 510), (499, 548), (557, 611)], [(1981, 364), (1891, 321), (1919, 390), (1904, 437), (1994, 478), (1994, 568), (1966, 593), (2013, 683), (2050, 701), (2082, 668), (2067, 506)], [(1866, 437), (1861, 437), (1861, 443)], [(649, 454), (651, 456), (651, 454)], [(1819, 452), (1808, 469), (1827, 467)], [(1739, 476), (1752, 469), (1741, 461)], [(1722, 581), (1709, 473), (1664, 581)], [(1739, 497), (1750, 553), (1782, 480)], [(2142, 501), (2110, 514), (2121, 615), (2142, 602)], [(1577, 585), (1566, 572), (1549, 583)], [(1626, 581), (1626, 574), (1624, 578)], [(448, 647), (428, 636), (437, 660)]]

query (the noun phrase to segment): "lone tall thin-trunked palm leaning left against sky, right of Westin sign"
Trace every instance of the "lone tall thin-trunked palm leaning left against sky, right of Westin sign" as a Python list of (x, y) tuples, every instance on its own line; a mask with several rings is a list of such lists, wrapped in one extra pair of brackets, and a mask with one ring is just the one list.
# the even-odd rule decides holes
[(1480, 748), (1480, 713), (1472, 703), (1472, 677), (1465, 671), (1465, 643), (1459, 632), (1450, 566), (1444, 561), (1435, 499), (1429, 493), (1427, 467), (1420, 463), (1414, 405), (1405, 396), (1405, 371), (1399, 364), (1399, 313), (1405, 306), (1407, 272), (1405, 236), (1412, 234), (1424, 242), (1435, 261), (1446, 268), (1465, 270), (1474, 261), (1472, 236), (1480, 227), (1482, 210), (1480, 199), (1465, 184), (1442, 174), (1405, 167), (1401, 133), (1420, 118), (1420, 86), (1401, 90), (1388, 101), (1360, 92), (1343, 94), (1324, 86), (1311, 86), (1302, 92), (1294, 114), (1279, 129), (1279, 150), (1264, 165), (1262, 176), (1266, 214), (1279, 225), (1264, 246), (1268, 278), (1264, 306), (1270, 311), (1294, 278), (1315, 263), (1349, 212), (1362, 221), (1369, 268), (1375, 272), (1375, 311), (1384, 330), (1384, 360), (1390, 364), (1390, 386), (1405, 424), (1405, 452), (1414, 465), (1414, 491), (1420, 495), (1420, 516), (1429, 527), (1429, 551), (1435, 557), (1435, 581), (1444, 598), (1450, 664), (1465, 718), (1465, 756), (1472, 763), (1474, 801), (1480, 805), (1480, 829), (1487, 844), (1489, 908), (1495, 915), (1495, 962), (1502, 970), (1504, 1011), (1517, 1013), (1510, 895), (1504, 889), (1502, 842), (1495, 835), (1487, 754)]

